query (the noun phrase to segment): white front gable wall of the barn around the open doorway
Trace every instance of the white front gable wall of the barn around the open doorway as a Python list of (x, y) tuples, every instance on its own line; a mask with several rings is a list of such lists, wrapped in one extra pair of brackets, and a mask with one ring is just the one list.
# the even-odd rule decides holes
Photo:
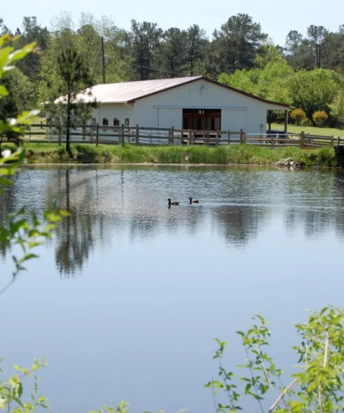
[(182, 129), (182, 109), (188, 107), (222, 109), (222, 130), (244, 129), (248, 134), (260, 133), (261, 124), (266, 131), (269, 109), (286, 110), (200, 79), (137, 100), (133, 119), (139, 126)]

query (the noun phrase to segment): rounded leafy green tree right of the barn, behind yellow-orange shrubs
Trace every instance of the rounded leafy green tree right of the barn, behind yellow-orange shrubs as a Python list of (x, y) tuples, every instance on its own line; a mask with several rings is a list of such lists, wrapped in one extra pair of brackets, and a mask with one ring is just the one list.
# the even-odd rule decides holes
[(329, 112), (339, 85), (339, 76), (324, 69), (301, 70), (288, 78), (292, 105), (303, 109), (310, 119), (317, 110)]

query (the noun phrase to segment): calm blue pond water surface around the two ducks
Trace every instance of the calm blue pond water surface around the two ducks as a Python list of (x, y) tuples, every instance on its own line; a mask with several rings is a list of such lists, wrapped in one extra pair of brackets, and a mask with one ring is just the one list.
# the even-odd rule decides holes
[[(189, 196), (201, 203), (189, 205)], [(180, 207), (168, 209), (167, 198)], [(45, 354), (41, 392), (54, 412), (111, 399), (134, 413), (213, 412), (203, 386), (216, 373), (215, 337), (229, 341), (228, 366), (241, 363), (235, 331), (259, 311), (288, 371), (294, 322), (307, 308), (343, 305), (344, 178), (336, 173), (25, 169), (1, 198), (0, 220), (54, 201), (71, 218), (0, 297), (6, 371)], [(1, 254), (3, 288), (12, 262)]]

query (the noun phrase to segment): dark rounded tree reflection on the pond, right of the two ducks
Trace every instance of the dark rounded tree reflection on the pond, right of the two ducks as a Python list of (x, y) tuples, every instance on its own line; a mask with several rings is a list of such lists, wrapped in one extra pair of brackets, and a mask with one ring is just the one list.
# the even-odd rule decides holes
[(268, 217), (268, 211), (244, 205), (217, 207), (213, 211), (213, 218), (226, 242), (235, 246), (246, 246), (257, 237), (261, 225)]

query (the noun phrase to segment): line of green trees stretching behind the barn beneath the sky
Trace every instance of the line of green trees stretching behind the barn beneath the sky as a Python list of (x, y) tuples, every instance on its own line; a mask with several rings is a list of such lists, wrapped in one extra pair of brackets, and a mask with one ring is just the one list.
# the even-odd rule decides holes
[[(10, 30), (0, 19), (4, 32)], [(107, 83), (204, 75), (291, 103), (303, 110), (305, 123), (314, 123), (314, 113), (322, 111), (327, 125), (344, 124), (344, 25), (336, 32), (310, 25), (306, 36), (291, 30), (284, 45), (273, 45), (248, 14), (229, 17), (211, 36), (199, 25), (162, 30), (157, 23), (132, 20), (131, 29), (123, 30), (107, 17), (81, 14), (76, 25), (69, 14), (61, 14), (49, 29), (36, 17), (24, 17), (12, 34), (20, 35), (16, 47), (38, 41), (40, 52), (19, 61), (6, 78), (9, 95), (0, 104), (0, 118), (34, 107), (61, 89), (56, 62), (67, 47), (87, 62), (93, 83), (103, 83), (103, 38)]]

